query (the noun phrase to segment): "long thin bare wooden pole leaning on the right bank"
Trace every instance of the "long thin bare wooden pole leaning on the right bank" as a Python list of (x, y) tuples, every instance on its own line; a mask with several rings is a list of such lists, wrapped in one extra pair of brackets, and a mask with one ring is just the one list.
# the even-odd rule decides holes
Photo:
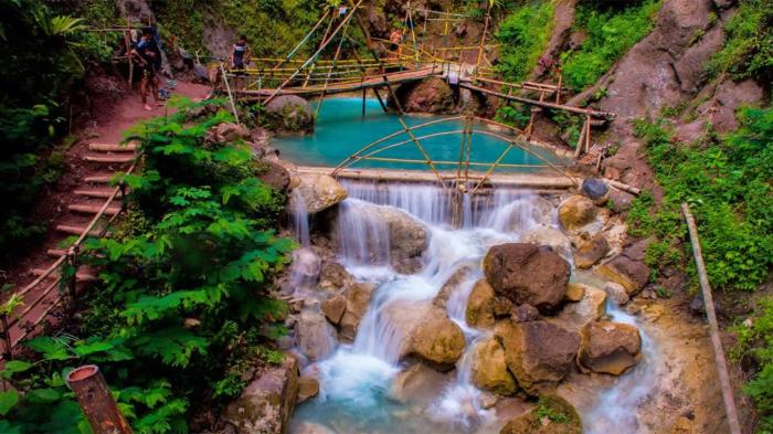
[(733, 389), (730, 385), (730, 375), (728, 375), (728, 363), (724, 360), (724, 350), (722, 341), (719, 337), (719, 326), (717, 325), (717, 313), (714, 313), (714, 301), (711, 296), (711, 286), (709, 277), (706, 274), (706, 265), (703, 264), (703, 254), (700, 248), (700, 240), (698, 240), (698, 229), (696, 227), (695, 219), (690, 213), (690, 207), (687, 202), (682, 202), (681, 212), (687, 221), (687, 229), (690, 233), (690, 244), (692, 246), (692, 256), (698, 268), (698, 279), (700, 280), (700, 289), (703, 294), (703, 305), (706, 306), (706, 316), (709, 319), (709, 335), (711, 336), (711, 346), (714, 352), (714, 364), (717, 364), (717, 374), (722, 389), (722, 400), (724, 401), (724, 411), (728, 414), (728, 425), (731, 434), (741, 434), (741, 425), (738, 422), (738, 412), (735, 410), (735, 399), (733, 398)]

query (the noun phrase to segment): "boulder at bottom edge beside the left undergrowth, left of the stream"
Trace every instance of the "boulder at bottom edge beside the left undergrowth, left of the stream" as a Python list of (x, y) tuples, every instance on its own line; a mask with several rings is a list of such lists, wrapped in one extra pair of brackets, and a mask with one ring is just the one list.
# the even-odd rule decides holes
[(223, 412), (222, 419), (239, 434), (284, 433), (298, 396), (298, 362), (284, 361), (263, 372)]

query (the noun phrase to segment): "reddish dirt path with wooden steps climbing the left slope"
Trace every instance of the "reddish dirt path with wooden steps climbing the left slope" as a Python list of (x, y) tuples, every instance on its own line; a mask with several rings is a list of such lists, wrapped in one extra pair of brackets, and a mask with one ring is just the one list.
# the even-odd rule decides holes
[[(210, 87), (192, 83), (178, 83), (172, 95), (201, 99)], [(18, 264), (6, 272), (6, 280), (14, 285), (14, 290), (22, 290), (34, 282), (41, 271), (51, 267), (77, 231), (66, 227), (84, 227), (94, 218), (99, 207), (105, 203), (105, 195), (112, 188), (104, 179), (117, 171), (126, 170), (134, 158), (131, 151), (95, 150), (91, 144), (118, 145), (124, 131), (142, 119), (162, 116), (167, 107), (161, 106), (149, 112), (142, 108), (137, 92), (127, 89), (125, 96), (116, 102), (96, 102), (94, 118), (74, 131), (77, 141), (66, 151), (65, 172), (57, 183), (46, 191), (34, 215), (38, 222), (46, 226), (46, 235), (38, 247), (30, 251)], [(109, 149), (109, 146), (107, 147)], [(108, 161), (105, 161), (108, 160)], [(102, 177), (102, 181), (95, 178)], [(119, 202), (117, 203), (119, 204)], [(73, 209), (75, 207), (75, 209)], [(59, 297), (53, 278), (45, 279), (24, 295), (24, 306), (19, 311), (23, 317), (19, 325), (11, 327), (11, 337), (15, 341), (23, 334), (24, 325), (46, 316)], [(46, 290), (47, 289), (47, 290)], [(40, 303), (36, 303), (40, 300)]]

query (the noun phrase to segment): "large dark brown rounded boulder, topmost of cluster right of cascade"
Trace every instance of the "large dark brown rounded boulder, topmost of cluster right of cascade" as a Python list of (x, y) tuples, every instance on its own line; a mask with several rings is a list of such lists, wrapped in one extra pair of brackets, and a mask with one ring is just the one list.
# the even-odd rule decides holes
[(484, 273), (497, 295), (547, 314), (561, 304), (571, 268), (549, 247), (508, 243), (489, 248)]

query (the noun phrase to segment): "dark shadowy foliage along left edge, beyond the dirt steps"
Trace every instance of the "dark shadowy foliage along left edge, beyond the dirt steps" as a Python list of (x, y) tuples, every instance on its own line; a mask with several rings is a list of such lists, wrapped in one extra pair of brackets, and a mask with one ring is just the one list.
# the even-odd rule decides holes
[(81, 19), (52, 8), (0, 2), (0, 262), (44, 232), (28, 214), (63, 171), (62, 154), (51, 148), (64, 133), (70, 91), (85, 63), (106, 59), (104, 43), (85, 32)]

